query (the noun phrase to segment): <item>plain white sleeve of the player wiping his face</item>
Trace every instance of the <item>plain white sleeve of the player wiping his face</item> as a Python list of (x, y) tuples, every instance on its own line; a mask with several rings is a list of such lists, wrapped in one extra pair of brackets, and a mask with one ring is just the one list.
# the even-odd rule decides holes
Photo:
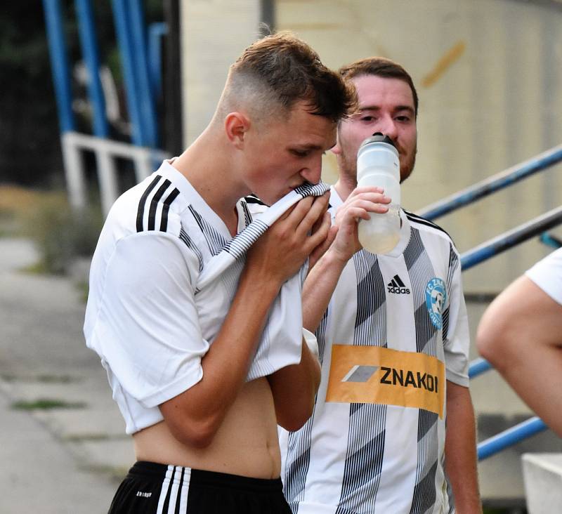
[(178, 237), (120, 239), (107, 262), (94, 336), (129, 395), (151, 408), (202, 378), (204, 340), (195, 305), (197, 256)]

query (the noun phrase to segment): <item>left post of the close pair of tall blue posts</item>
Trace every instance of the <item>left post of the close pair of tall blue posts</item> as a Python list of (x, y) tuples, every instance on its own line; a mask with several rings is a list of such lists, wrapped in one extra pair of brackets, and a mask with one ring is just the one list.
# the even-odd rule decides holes
[(127, 0), (112, 0), (112, 6), (115, 31), (117, 33), (117, 44), (119, 44), (119, 55), (121, 55), (121, 64), (125, 80), (127, 108), (131, 119), (131, 139), (133, 140), (133, 144), (145, 146), (146, 138), (141, 120), (139, 107), (140, 99), (134, 70), (133, 54), (135, 48), (133, 47), (131, 29), (129, 27)]

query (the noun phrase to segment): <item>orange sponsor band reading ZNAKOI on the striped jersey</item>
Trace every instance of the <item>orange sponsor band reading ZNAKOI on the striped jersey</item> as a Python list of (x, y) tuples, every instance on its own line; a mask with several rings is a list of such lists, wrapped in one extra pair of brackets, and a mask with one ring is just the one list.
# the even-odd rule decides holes
[(333, 345), (327, 402), (417, 407), (443, 418), (445, 365), (424, 353)]

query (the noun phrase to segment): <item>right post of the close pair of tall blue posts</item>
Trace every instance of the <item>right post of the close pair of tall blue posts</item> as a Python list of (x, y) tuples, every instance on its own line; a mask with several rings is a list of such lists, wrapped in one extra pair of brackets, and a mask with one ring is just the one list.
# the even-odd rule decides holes
[(150, 89), (148, 72), (147, 44), (143, 5), (141, 0), (129, 0), (129, 27), (133, 43), (134, 72), (138, 85), (139, 112), (146, 145), (157, 146), (156, 108)]

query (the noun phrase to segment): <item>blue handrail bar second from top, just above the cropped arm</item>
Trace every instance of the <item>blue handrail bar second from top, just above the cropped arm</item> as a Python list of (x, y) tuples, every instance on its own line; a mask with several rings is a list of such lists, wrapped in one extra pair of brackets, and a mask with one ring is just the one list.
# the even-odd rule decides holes
[(562, 223), (562, 206), (552, 209), (542, 216), (530, 220), (528, 223), (519, 225), (509, 232), (490, 239), (476, 248), (462, 253), (461, 265), (462, 270), (466, 271), (474, 265), (497, 256), (499, 253), (519, 244), (535, 235), (539, 235), (544, 230), (549, 230), (556, 225)]

